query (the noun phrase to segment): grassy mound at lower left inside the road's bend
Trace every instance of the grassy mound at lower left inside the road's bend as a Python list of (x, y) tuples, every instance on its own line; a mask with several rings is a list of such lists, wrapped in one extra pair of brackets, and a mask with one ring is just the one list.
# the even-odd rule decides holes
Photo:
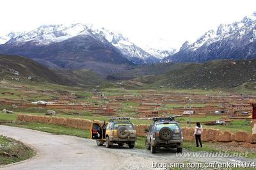
[(35, 155), (35, 151), (14, 139), (0, 135), (0, 165), (26, 160)]

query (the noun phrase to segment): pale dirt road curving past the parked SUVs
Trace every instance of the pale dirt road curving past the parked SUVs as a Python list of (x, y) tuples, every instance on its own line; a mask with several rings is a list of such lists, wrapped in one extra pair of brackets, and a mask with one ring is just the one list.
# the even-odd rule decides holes
[[(54, 135), (26, 128), (0, 126), (0, 134), (35, 148), (37, 155), (25, 162), (3, 166), (3, 169), (152, 169), (152, 162), (185, 162), (195, 158), (176, 157), (175, 150), (159, 151), (125, 147), (105, 148), (95, 141), (68, 135)], [(186, 152), (186, 151), (185, 151)], [(234, 158), (214, 158), (218, 162), (234, 162)], [(248, 160), (240, 158), (240, 160)], [(196, 158), (196, 162), (212, 162), (212, 158)]]

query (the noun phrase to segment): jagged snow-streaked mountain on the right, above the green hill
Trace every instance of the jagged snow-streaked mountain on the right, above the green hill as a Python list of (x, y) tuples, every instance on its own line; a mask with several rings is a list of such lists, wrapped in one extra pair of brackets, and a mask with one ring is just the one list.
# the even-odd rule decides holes
[(212, 59), (256, 58), (256, 12), (232, 24), (220, 24), (196, 42), (185, 42), (179, 52), (164, 58), (170, 61), (204, 62)]

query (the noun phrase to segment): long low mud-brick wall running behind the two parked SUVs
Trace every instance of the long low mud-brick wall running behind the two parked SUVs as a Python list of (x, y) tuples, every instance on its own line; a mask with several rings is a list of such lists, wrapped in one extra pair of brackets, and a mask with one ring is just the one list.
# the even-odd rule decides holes
[[(83, 130), (90, 130), (91, 120), (82, 120), (77, 118), (60, 118), (55, 116), (37, 116), (31, 114), (17, 114), (18, 121), (33, 121), (38, 123), (51, 123), (54, 125), (62, 125), (66, 127), (79, 128)], [(99, 121), (102, 125), (102, 121)], [(256, 123), (256, 121), (253, 121)], [(256, 124), (254, 124), (256, 127)], [(145, 128), (148, 125), (134, 125), (136, 133), (140, 136), (145, 136)], [(195, 140), (195, 128), (194, 127), (183, 127), (183, 136), (186, 141)], [(238, 131), (236, 134), (226, 130), (221, 131), (214, 128), (204, 128), (202, 133), (202, 141), (215, 141), (215, 142), (242, 142), (242, 143), (256, 143), (256, 134), (248, 134), (243, 131)]]

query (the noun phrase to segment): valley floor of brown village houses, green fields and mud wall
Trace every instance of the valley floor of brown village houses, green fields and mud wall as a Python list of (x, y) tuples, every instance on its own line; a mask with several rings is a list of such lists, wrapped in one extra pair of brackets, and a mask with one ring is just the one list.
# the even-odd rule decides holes
[[(145, 129), (154, 118), (173, 117), (182, 128), (183, 153), (228, 151), (246, 153), (244, 158), (249, 160), (256, 155), (255, 95), (200, 89), (84, 90), (54, 84), (42, 86), (38, 82), (25, 86), (22, 82), (4, 80), (0, 97), (1, 125), (91, 138), (93, 122), (101, 126), (113, 117), (130, 118), (137, 135), (133, 150), (145, 152)], [(204, 128), (202, 148), (195, 145), (196, 122)], [(114, 150), (126, 151), (122, 150), (125, 145), (121, 148), (113, 145)], [(173, 149), (158, 148), (156, 154), (168, 158), (175, 153)], [(147, 154), (152, 157), (150, 151)]]

